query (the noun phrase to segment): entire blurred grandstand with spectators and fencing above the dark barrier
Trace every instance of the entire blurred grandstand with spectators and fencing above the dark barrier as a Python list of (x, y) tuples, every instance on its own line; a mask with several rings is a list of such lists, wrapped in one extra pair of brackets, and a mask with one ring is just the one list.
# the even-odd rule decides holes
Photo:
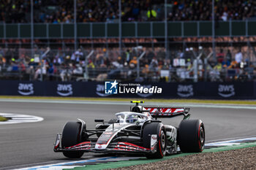
[(2, 0), (0, 79), (256, 79), (256, 1)]

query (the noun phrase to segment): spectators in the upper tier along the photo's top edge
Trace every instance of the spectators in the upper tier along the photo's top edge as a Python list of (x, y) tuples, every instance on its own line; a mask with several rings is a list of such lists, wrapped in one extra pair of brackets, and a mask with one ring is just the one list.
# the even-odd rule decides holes
[[(30, 0), (2, 0), (0, 21), (29, 23)], [(157, 0), (121, 0), (123, 21), (164, 19), (164, 2)], [(118, 0), (77, 0), (77, 22), (114, 22), (118, 19)], [(254, 0), (215, 0), (216, 20), (246, 20), (256, 18)], [(211, 20), (211, 0), (167, 0), (168, 20)], [(73, 23), (74, 1), (34, 0), (35, 23)]]

